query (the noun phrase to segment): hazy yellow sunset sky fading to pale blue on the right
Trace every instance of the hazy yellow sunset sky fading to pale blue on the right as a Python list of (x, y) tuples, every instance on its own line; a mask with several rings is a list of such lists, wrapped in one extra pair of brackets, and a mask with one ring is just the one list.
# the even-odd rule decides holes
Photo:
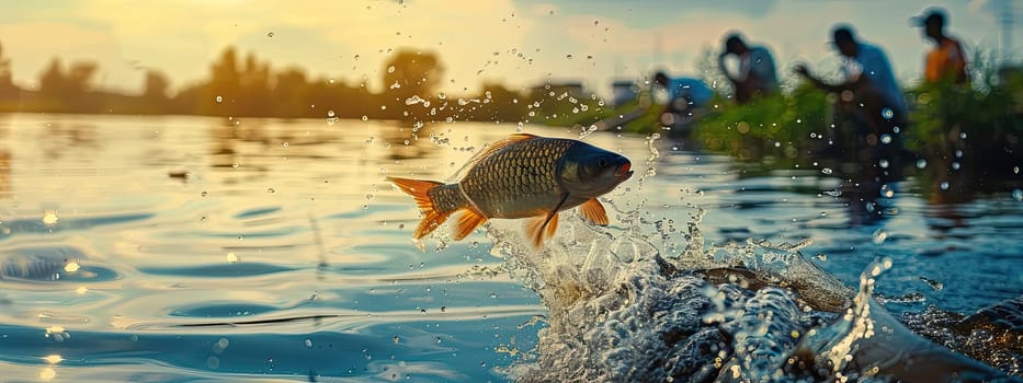
[[(474, 91), (481, 80), (522, 86), (549, 77), (606, 95), (613, 78), (652, 68), (697, 74), (701, 49), (717, 47), (731, 30), (766, 44), (783, 70), (800, 60), (833, 70), (826, 43), (837, 22), (882, 45), (899, 78), (914, 81), (929, 43), (911, 16), (944, 7), (953, 35), (991, 50), (1000, 47), (999, 16), (1010, 1), (0, 0), (0, 44), (22, 86), (34, 86), (59, 56), (99, 62), (101, 86), (138, 91), (141, 69), (156, 68), (177, 88), (207, 77), (211, 62), (235, 45), (274, 68), (350, 82), (367, 77), (379, 89), (388, 50), (413, 47), (439, 54), (447, 92)], [(1023, 7), (1014, 12), (1019, 60)]]

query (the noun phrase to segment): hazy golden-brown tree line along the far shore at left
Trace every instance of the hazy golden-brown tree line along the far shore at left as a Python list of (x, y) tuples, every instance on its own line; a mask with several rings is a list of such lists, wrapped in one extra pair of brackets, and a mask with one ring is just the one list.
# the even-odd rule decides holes
[(371, 92), (366, 79), (311, 77), (299, 67), (276, 69), (230, 46), (209, 65), (206, 79), (175, 91), (161, 71), (146, 69), (138, 94), (96, 86), (95, 62), (65, 63), (57, 57), (39, 74), (37, 89), (23, 89), (12, 82), (10, 62), (0, 45), (0, 112), (543, 123), (586, 103), (596, 107), (592, 95), (577, 94), (578, 89), (556, 94), (550, 85), (510, 89), (484, 83), (479, 94), (447, 96), (437, 92), (444, 76), (437, 54), (411, 48), (395, 51), (384, 62), (380, 92)]

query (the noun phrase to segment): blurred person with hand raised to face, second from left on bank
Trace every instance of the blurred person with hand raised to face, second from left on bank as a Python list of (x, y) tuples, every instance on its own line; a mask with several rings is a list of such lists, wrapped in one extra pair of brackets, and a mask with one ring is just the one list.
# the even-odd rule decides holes
[[(731, 76), (725, 69), (725, 58), (736, 55), (739, 59), (739, 72)], [(774, 57), (762, 46), (747, 45), (738, 33), (725, 38), (725, 50), (717, 58), (721, 73), (736, 89), (736, 102), (746, 104), (754, 96), (777, 93), (777, 73)]]

